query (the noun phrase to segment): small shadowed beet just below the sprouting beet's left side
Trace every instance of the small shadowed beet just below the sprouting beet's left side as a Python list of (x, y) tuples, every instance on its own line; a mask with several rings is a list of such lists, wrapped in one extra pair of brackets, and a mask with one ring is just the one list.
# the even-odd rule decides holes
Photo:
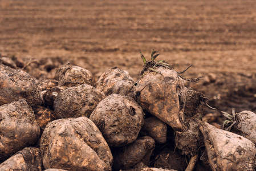
[(151, 136), (156, 143), (166, 143), (167, 125), (157, 117), (152, 116), (144, 120), (144, 125), (141, 128), (141, 132), (147, 133)]

